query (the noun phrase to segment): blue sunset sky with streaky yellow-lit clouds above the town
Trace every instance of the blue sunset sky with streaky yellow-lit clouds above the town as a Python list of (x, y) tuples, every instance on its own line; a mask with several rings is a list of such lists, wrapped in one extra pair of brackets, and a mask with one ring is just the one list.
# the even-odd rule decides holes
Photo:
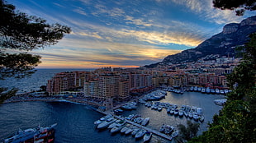
[(196, 48), (255, 12), (212, 7), (211, 0), (7, 0), (17, 10), (72, 32), (39, 54), (39, 68), (140, 67)]

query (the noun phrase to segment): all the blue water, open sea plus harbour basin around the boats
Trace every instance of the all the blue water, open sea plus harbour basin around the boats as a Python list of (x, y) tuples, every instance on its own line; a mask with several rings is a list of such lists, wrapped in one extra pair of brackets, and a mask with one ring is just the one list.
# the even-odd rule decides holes
[[(17, 87), (20, 93), (39, 90), (40, 85), (46, 85), (55, 73), (61, 71), (89, 71), (92, 69), (38, 69), (34, 75), (24, 79), (7, 79), (1, 82), (4, 87)], [(214, 99), (225, 99), (224, 95), (206, 95), (198, 92), (185, 92), (183, 95), (168, 92), (165, 99), (160, 102), (177, 104), (178, 108), (182, 104), (197, 106), (202, 108), (205, 116), (204, 122), (200, 123), (198, 135), (207, 130), (208, 122), (212, 117), (219, 113), (221, 106), (214, 104)], [(178, 128), (178, 124), (187, 124), (188, 118), (179, 118), (162, 111), (153, 110), (145, 107), (144, 104), (138, 104), (136, 110), (125, 111), (121, 116), (128, 117), (130, 114), (138, 113), (142, 118), (150, 118), (147, 127), (159, 131), (162, 124), (173, 125)], [(7, 136), (12, 136), (19, 129), (31, 127), (49, 126), (57, 123), (55, 127), (56, 143), (131, 143), (143, 142), (143, 139), (135, 140), (133, 136), (117, 133), (112, 135), (110, 131), (97, 130), (93, 122), (102, 118), (102, 113), (97, 113), (88, 105), (73, 104), (69, 102), (18, 102), (0, 105), (0, 142)], [(192, 120), (191, 120), (192, 121)], [(194, 121), (192, 121), (194, 122)], [(167, 141), (159, 136), (153, 135), (150, 142), (178, 142)]]

